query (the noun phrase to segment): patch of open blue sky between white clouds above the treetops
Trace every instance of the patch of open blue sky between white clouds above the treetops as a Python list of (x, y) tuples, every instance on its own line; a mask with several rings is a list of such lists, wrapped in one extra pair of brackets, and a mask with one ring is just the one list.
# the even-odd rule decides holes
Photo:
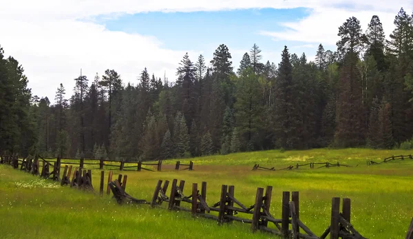
[[(292, 53), (315, 54), (318, 44), (299, 41), (274, 41), (260, 34), (262, 31), (279, 32), (288, 29), (282, 22), (299, 21), (308, 17), (310, 9), (248, 9), (220, 12), (147, 12), (125, 14), (116, 18), (98, 16), (94, 21), (107, 30), (156, 37), (162, 47), (177, 51), (204, 52), (211, 57), (224, 43), (233, 55), (233, 67), (239, 65), (240, 56), (256, 43), (264, 56), (263, 61), (277, 62), (278, 55), (287, 45)], [(312, 45), (313, 47), (310, 47)], [(328, 47), (328, 46), (326, 46)], [(198, 56), (191, 56), (193, 61)]]

